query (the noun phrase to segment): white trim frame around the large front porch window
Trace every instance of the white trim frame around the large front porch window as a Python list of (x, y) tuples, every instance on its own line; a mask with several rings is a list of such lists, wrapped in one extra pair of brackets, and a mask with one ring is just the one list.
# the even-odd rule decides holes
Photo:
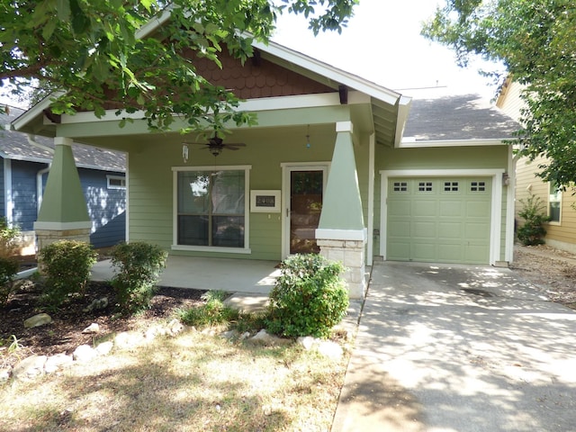
[[(238, 166), (172, 166), (172, 250), (214, 252), (220, 254), (252, 253), (250, 249), (250, 169), (251, 165)], [(178, 244), (178, 173), (184, 171), (244, 171), (244, 247), (188, 246)]]

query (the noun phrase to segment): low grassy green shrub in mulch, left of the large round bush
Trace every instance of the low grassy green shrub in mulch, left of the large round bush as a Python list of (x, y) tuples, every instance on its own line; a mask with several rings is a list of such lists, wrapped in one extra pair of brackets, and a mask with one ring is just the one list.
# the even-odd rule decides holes
[(224, 304), (227, 295), (221, 291), (203, 293), (202, 300), (205, 302), (202, 306), (180, 311), (180, 320), (188, 326), (199, 328), (238, 320), (240, 313)]

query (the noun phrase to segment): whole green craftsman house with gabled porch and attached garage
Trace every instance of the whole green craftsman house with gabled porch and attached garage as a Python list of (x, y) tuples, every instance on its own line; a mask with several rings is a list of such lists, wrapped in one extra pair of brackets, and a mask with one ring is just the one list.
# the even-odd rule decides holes
[(223, 143), (197, 143), (177, 124), (150, 133), (139, 113), (123, 128), (114, 111), (50, 120), (49, 99), (16, 119), (14, 130), (57, 145), (35, 224), (40, 247), (89, 233), (74, 141), (127, 154), (127, 238), (172, 255), (278, 262), (320, 252), (347, 266), (356, 298), (374, 259), (511, 260), (508, 118), (475, 96), (412, 101), (275, 43), (255, 52), (244, 66), (226, 56), (221, 69), (197, 65), (257, 114), (257, 126)]

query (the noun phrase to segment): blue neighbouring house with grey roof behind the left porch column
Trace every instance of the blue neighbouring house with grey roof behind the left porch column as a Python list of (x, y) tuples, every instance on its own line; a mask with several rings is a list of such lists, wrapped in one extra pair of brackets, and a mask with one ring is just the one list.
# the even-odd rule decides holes
[[(24, 253), (34, 253), (33, 223), (37, 220), (49, 164), (54, 154), (53, 139), (4, 130), (4, 125), (23, 114), (10, 107), (0, 114), (0, 215), (23, 230)], [(125, 239), (125, 157), (120, 152), (74, 146), (76, 166), (88, 213), (92, 220), (90, 241), (107, 247)]]

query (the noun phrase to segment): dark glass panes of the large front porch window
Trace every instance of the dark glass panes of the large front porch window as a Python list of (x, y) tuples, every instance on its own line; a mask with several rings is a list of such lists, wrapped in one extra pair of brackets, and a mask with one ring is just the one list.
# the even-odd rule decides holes
[(176, 170), (176, 245), (246, 249), (247, 180), (247, 167)]

